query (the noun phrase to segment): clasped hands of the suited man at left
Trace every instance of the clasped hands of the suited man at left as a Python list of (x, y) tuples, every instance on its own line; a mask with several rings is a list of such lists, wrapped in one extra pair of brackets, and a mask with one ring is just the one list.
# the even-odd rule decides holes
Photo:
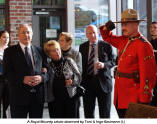
[(27, 84), (27, 85), (33, 87), (42, 82), (42, 77), (40, 75), (25, 76), (23, 82), (24, 82), (24, 84)]

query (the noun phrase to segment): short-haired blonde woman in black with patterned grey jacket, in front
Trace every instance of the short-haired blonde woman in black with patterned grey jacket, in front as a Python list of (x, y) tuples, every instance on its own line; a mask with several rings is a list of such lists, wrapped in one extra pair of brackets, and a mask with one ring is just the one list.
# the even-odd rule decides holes
[[(51, 118), (76, 118), (77, 102), (74, 97), (81, 74), (71, 58), (64, 58), (58, 42), (51, 40), (44, 46), (50, 57), (46, 84), (46, 100)], [(73, 92), (74, 91), (74, 92)]]

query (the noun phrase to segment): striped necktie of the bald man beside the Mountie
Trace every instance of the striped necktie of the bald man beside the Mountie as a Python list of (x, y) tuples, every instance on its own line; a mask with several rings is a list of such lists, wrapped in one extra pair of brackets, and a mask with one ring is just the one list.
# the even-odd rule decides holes
[(95, 46), (96, 44), (92, 44), (91, 47), (91, 52), (88, 60), (88, 69), (87, 69), (87, 74), (88, 75), (94, 75), (94, 58), (95, 58)]

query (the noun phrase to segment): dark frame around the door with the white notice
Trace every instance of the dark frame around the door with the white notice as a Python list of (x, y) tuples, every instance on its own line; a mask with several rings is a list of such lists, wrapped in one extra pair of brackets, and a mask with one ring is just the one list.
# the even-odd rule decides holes
[[(33, 28), (33, 44), (43, 47), (43, 41), (40, 40), (40, 25), (39, 17), (40, 16), (61, 16), (61, 27), (62, 31), (67, 32), (67, 9), (65, 7), (59, 7), (59, 8), (33, 8), (33, 15), (32, 15), (32, 28)], [(38, 19), (37, 19), (38, 18)]]

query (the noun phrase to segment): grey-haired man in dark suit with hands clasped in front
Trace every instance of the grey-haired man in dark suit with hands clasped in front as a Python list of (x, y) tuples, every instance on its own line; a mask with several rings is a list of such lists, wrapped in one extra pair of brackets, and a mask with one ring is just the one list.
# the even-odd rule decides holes
[(3, 73), (9, 82), (12, 118), (42, 118), (44, 82), (42, 72), (44, 54), (31, 44), (32, 28), (22, 24), (18, 30), (19, 44), (4, 51)]

